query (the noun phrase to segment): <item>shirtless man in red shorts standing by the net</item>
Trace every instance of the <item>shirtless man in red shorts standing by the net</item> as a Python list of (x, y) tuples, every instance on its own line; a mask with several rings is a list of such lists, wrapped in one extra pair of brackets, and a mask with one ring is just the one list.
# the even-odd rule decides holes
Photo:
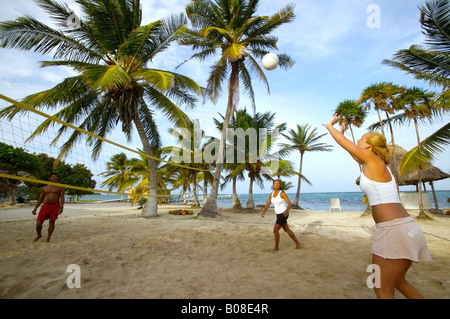
[[(49, 178), (50, 182), (58, 182), (58, 174), (52, 173)], [(50, 241), (50, 237), (55, 230), (55, 221), (58, 219), (59, 214), (62, 214), (64, 209), (64, 187), (46, 185), (42, 189), (41, 196), (39, 196), (36, 207), (33, 209), (33, 215), (36, 215), (36, 210), (39, 205), (44, 203), (39, 211), (39, 215), (36, 219), (36, 232), (37, 237), (34, 241), (38, 241), (42, 237), (42, 224), (46, 219), (49, 219), (47, 241)]]

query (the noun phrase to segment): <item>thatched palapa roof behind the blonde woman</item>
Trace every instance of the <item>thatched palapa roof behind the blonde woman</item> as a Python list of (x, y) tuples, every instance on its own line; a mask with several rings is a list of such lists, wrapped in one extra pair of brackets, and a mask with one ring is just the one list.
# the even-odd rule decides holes
[[(392, 144), (389, 144), (388, 148), (392, 151), (391, 165), (390, 165), (391, 169), (392, 169), (392, 165), (394, 164), (394, 147)], [(395, 170), (397, 172), (399, 172), (400, 162), (406, 153), (407, 153), (407, 151), (404, 148), (402, 148), (401, 146), (395, 145), (395, 154), (396, 154), (396, 160), (397, 160), (397, 163), (395, 165)], [(400, 186), (417, 185), (419, 183), (419, 172), (420, 172), (420, 177), (421, 177), (422, 183), (438, 181), (438, 180), (442, 180), (442, 179), (446, 179), (446, 178), (450, 177), (450, 174), (447, 174), (447, 173), (441, 171), (436, 166), (433, 166), (431, 164), (426, 164), (422, 167), (422, 169), (420, 171), (419, 171), (419, 169), (415, 169), (411, 172), (408, 172), (408, 173), (400, 176), (398, 178), (398, 185), (400, 185)]]

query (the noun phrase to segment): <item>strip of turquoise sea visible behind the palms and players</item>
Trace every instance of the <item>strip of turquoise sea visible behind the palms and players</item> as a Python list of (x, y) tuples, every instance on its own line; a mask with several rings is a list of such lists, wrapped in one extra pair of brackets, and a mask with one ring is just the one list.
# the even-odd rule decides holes
[[(286, 193), (291, 201), (294, 201), (295, 193)], [(228, 194), (221, 194), (228, 195)], [(363, 204), (363, 193), (355, 192), (335, 192), (335, 193), (300, 193), (299, 205), (303, 209), (309, 210), (329, 210), (330, 209), (330, 199), (339, 198), (341, 201), (341, 207), (344, 211), (356, 211), (363, 212), (366, 209), (366, 204)], [(428, 192), (428, 197), (430, 199), (431, 208), (435, 207), (433, 194), (431, 191)], [(447, 199), (450, 198), (450, 191), (436, 191), (437, 202), (439, 209), (449, 208), (450, 204), (447, 204)], [(85, 195), (82, 200), (114, 200), (120, 199), (120, 195)], [(239, 200), (242, 207), (246, 206), (247, 194), (240, 194)], [(265, 205), (269, 199), (269, 194), (254, 194), (253, 200), (255, 205)], [(203, 201), (203, 197), (199, 197), (200, 202)], [(232, 207), (233, 203), (231, 198), (221, 198), (217, 201), (219, 207)]]

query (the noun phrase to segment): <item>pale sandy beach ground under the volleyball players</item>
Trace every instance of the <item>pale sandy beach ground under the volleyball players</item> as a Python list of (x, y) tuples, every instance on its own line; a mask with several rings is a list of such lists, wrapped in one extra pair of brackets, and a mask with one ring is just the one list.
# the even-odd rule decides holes
[[(281, 232), (273, 210), (220, 209), (220, 217), (140, 217), (128, 203), (66, 204), (50, 242), (33, 242), (32, 206), (0, 209), (3, 299), (375, 299), (370, 273), (374, 222), (361, 212), (291, 210), (303, 244)], [(198, 211), (198, 209), (196, 209)], [(410, 212), (416, 216), (417, 212)], [(419, 221), (433, 260), (407, 279), (426, 298), (450, 298), (450, 216)], [(80, 288), (76, 283), (79, 269)], [(403, 296), (397, 292), (397, 298)]]

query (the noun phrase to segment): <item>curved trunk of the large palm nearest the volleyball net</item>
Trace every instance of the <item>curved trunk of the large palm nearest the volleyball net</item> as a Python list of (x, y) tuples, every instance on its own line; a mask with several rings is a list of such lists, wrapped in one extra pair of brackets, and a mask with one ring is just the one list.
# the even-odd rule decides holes
[[(136, 125), (136, 129), (139, 133), (139, 137), (141, 138), (142, 145), (144, 147), (145, 154), (149, 156), (153, 156), (153, 150), (150, 145), (150, 142), (147, 138), (147, 135), (145, 134), (144, 126), (141, 123), (141, 120), (139, 119), (138, 114), (134, 116), (134, 124)], [(147, 158), (148, 161), (148, 168), (150, 170), (150, 176), (149, 176), (149, 192), (147, 197), (147, 202), (144, 205), (144, 208), (142, 209), (142, 217), (157, 217), (158, 216), (158, 181), (156, 178), (156, 163), (155, 160), (152, 158)]]

